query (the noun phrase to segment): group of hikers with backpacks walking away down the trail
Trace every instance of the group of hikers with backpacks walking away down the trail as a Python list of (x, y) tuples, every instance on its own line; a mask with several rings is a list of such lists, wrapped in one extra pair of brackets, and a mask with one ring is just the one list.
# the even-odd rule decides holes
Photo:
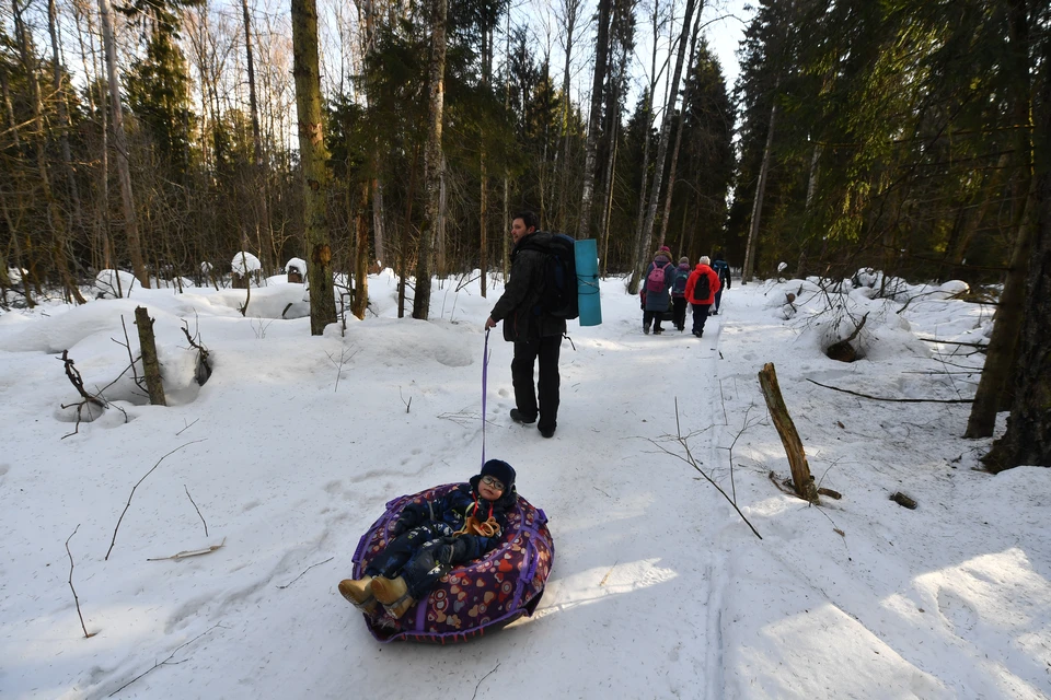
[[(696, 267), (691, 268), (690, 258), (679, 258), (677, 266), (672, 261), (671, 249), (663, 245), (654, 254), (654, 261), (646, 270), (646, 278), (639, 288), (643, 308), (643, 332), (654, 335), (665, 331), (661, 320), (671, 320), (675, 328), (685, 330), (686, 304), (693, 308), (692, 332), (697, 338), (704, 335), (704, 323), (708, 316), (719, 314), (723, 290), (730, 289), (730, 266), (723, 253), (715, 254), (715, 261), (702, 255)], [(671, 318), (668, 318), (668, 314)]]

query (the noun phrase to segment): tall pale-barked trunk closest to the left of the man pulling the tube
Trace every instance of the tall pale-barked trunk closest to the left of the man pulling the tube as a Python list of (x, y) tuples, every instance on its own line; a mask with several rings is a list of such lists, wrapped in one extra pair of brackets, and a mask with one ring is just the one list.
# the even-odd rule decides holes
[(446, 15), (449, 0), (434, 0), (430, 20), (430, 70), (428, 94), (426, 171), (427, 210), (419, 231), (419, 254), (416, 259), (416, 294), (413, 299), (413, 318), (427, 320), (430, 316), (430, 277), (435, 233), (441, 217), (441, 120), (444, 106), (446, 74)]

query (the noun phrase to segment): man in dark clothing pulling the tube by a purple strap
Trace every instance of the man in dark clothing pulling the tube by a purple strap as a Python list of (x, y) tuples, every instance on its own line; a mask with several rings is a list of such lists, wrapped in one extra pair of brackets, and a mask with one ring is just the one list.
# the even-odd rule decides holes
[[(558, 354), (562, 351), (562, 337), (566, 332), (566, 319), (544, 313), (540, 307), (540, 298), (544, 291), (544, 254), (530, 247), (535, 236), (551, 237), (550, 233), (538, 232), (540, 221), (531, 211), (515, 215), (511, 222), (511, 277), (504, 288), (504, 294), (496, 302), (486, 328), (495, 328), (504, 322), (504, 340), (515, 343), (515, 359), (511, 360), (511, 384), (515, 386), (515, 408), (511, 420), (530, 424), (540, 422), (536, 428), (544, 438), (555, 434), (558, 422)], [(533, 384), (533, 368), (540, 360), (540, 376)], [(538, 394), (540, 401), (538, 404)]]

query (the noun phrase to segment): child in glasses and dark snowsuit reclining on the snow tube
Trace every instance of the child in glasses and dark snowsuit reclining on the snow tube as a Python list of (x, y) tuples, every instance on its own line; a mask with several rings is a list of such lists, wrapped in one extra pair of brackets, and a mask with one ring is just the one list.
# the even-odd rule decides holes
[(394, 538), (362, 578), (340, 581), (339, 593), (366, 614), (382, 605), (401, 618), (453, 567), (496, 548), (517, 499), (515, 469), (489, 459), (469, 483), (434, 501), (406, 505), (392, 529)]

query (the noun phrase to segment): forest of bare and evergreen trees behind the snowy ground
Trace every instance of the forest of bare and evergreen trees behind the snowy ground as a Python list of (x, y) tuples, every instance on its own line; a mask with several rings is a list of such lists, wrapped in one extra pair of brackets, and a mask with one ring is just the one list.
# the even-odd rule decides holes
[(729, 85), (706, 5), (11, 0), (0, 301), (230, 284), (247, 252), (308, 261), (315, 334), (380, 268), (426, 318), (434, 276), (485, 294), (531, 209), (632, 292), (662, 244), (746, 283), (963, 280), (998, 303), (969, 432), (1016, 387), (1047, 412), (1051, 8), (760, 0)]

